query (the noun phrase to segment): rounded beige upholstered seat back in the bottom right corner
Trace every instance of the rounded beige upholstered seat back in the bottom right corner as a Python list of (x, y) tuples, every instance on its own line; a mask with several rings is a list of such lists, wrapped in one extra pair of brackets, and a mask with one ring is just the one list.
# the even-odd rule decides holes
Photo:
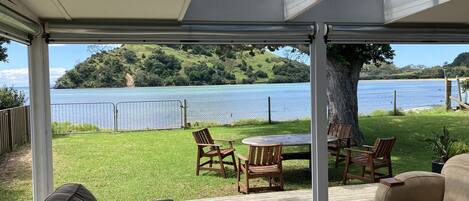
[(449, 159), (441, 173), (445, 176), (444, 201), (469, 200), (469, 154)]

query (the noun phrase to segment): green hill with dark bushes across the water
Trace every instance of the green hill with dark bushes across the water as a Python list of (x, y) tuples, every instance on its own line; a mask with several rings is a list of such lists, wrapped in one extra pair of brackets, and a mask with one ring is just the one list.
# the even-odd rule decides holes
[(223, 45), (133, 45), (100, 51), (77, 64), (55, 88), (307, 82), (303, 63), (252, 48)]

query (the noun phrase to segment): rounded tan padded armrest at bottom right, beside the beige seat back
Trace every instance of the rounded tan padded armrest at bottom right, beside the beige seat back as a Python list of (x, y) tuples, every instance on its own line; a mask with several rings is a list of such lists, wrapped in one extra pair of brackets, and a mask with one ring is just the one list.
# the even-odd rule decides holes
[(431, 172), (406, 172), (394, 178), (382, 179), (376, 191), (376, 201), (442, 201), (444, 176)]

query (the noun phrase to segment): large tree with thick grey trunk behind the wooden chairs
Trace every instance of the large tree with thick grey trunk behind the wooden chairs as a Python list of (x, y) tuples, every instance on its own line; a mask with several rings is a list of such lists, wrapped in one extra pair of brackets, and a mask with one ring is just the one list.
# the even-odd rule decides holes
[[(285, 46), (268, 45), (273, 51)], [(305, 45), (293, 46), (298, 51), (309, 54)], [(358, 81), (365, 64), (391, 63), (394, 51), (386, 44), (328, 44), (327, 77), (329, 85), (327, 98), (331, 122), (349, 123), (353, 126), (352, 139), (362, 143), (363, 134), (358, 125)]]

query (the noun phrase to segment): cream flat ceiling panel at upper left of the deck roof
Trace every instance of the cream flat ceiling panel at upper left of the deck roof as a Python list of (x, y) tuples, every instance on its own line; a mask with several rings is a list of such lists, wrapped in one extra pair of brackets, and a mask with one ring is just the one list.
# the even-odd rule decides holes
[(20, 0), (42, 19), (177, 20), (189, 0)]

